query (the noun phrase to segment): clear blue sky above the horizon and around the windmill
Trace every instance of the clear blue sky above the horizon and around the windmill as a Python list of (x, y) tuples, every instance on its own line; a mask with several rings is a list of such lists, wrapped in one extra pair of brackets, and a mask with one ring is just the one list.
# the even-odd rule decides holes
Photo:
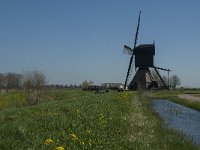
[[(124, 82), (139, 11), (138, 44), (156, 66), (200, 87), (199, 0), (1, 0), (0, 72), (43, 71), (50, 83)], [(160, 72), (167, 75), (166, 72)]]

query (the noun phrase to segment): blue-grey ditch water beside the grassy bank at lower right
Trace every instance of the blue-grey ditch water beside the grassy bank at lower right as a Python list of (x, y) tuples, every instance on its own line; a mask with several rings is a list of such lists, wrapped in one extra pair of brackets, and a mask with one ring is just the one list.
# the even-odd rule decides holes
[(176, 129), (200, 146), (200, 112), (168, 100), (152, 100), (153, 109), (167, 128)]

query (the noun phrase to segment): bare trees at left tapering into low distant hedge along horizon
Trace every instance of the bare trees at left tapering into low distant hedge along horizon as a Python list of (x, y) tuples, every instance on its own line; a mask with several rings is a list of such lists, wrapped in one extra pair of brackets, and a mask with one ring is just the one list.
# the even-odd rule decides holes
[(22, 74), (14, 72), (0, 73), (0, 90), (81, 89), (83, 85), (48, 84), (46, 75), (38, 70), (26, 71)]

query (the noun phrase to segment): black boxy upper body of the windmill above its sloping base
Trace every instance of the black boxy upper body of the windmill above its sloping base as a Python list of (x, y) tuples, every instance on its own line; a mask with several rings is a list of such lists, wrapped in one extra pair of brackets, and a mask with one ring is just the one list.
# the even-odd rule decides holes
[(142, 44), (134, 49), (135, 67), (153, 67), (155, 45)]

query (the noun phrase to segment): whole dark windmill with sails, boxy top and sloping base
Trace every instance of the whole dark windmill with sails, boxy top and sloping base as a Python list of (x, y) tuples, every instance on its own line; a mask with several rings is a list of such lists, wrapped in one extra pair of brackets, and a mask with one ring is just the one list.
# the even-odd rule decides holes
[[(124, 84), (124, 89), (126, 89), (127, 83), (134, 69), (136, 70), (136, 73), (132, 81), (128, 85), (128, 89), (137, 90), (138, 88), (141, 88), (146, 90), (151, 88), (158, 88), (158, 82), (152, 76), (149, 68), (155, 69), (155, 72), (160, 78), (163, 87), (167, 89), (169, 85), (167, 86), (166, 83), (163, 81), (162, 77), (158, 72), (158, 69), (168, 71), (168, 80), (169, 80), (169, 72), (171, 70), (154, 66), (155, 43), (141, 44), (137, 46), (138, 33), (140, 27), (140, 16), (141, 16), (141, 11), (138, 17), (138, 24), (135, 33), (135, 41), (133, 49), (127, 45), (124, 45), (124, 53), (131, 55), (126, 75), (126, 80)], [(133, 63), (135, 63), (135, 66), (133, 65)]]

